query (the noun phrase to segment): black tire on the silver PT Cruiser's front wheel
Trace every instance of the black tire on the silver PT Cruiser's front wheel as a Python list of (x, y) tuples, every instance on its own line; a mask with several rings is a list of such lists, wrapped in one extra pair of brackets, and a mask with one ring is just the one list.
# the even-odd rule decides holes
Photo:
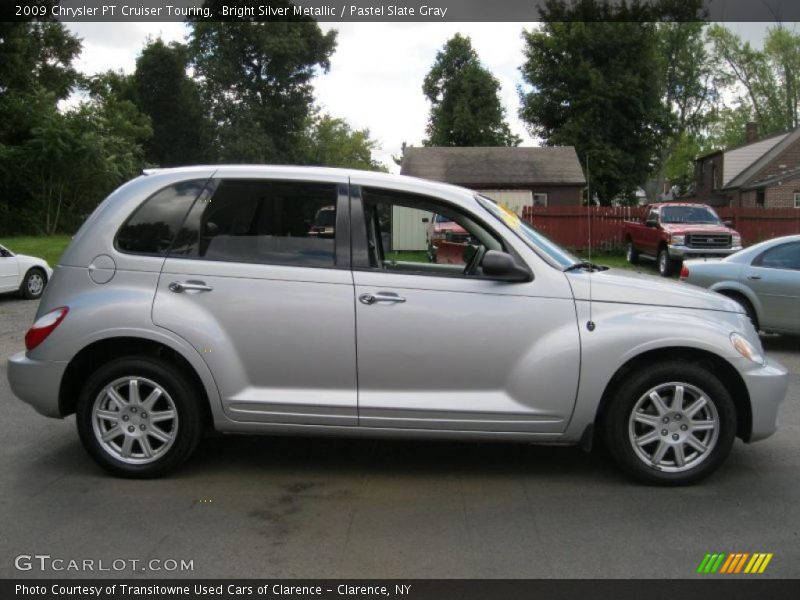
[[(685, 408), (698, 397), (690, 393), (692, 388), (702, 392), (709, 402), (698, 411), (701, 419), (694, 420), (691, 416), (687, 416), (688, 413), (682, 415), (682, 418), (678, 417), (679, 411), (672, 411), (673, 407), (668, 404), (675, 397), (673, 394), (665, 402), (670, 412), (648, 414), (640, 412), (641, 405), (637, 410), (637, 414), (655, 418), (657, 423), (655, 427), (640, 425), (638, 422), (632, 423), (632, 413), (637, 404), (644, 400), (645, 395), (659, 386), (664, 386), (662, 389), (671, 389), (667, 384), (679, 384), (685, 388)], [(716, 415), (716, 418), (709, 415)], [(663, 418), (669, 419), (669, 423), (665, 425)], [(681, 420), (678, 420), (679, 418)], [(696, 435), (691, 431), (681, 432), (680, 428), (684, 427), (684, 424), (702, 425), (712, 421), (718, 424), (716, 432), (699, 431), (699, 437), (695, 437), (698, 441), (706, 442), (705, 446), (708, 449), (705, 452), (683, 443), (684, 439)], [(633, 428), (639, 427), (643, 428), (639, 438), (645, 438), (646, 434), (656, 435), (657, 438), (644, 445), (637, 444), (632, 439), (637, 433)], [(648, 430), (648, 427), (653, 429)], [(668, 427), (670, 429), (667, 429)], [(673, 427), (674, 431), (671, 429)], [(736, 437), (736, 408), (728, 390), (711, 372), (693, 363), (670, 361), (655, 366), (644, 365), (631, 373), (614, 394), (602, 428), (608, 449), (617, 464), (634, 479), (651, 485), (688, 485), (713, 473), (727, 458)], [(667, 434), (664, 434), (665, 431)], [(679, 442), (672, 442), (670, 438), (676, 435), (684, 437)], [(662, 453), (661, 460), (656, 466), (651, 461), (657, 460), (656, 455), (662, 445), (669, 449)], [(674, 446), (681, 446), (681, 456), (686, 461), (682, 466), (677, 460), (677, 450), (673, 449)], [(689, 447), (688, 453), (685, 452), (687, 447)], [(692, 452), (696, 452), (696, 455), (692, 455)], [(648, 454), (651, 461), (645, 458)], [(693, 462), (696, 464), (692, 465)]]

